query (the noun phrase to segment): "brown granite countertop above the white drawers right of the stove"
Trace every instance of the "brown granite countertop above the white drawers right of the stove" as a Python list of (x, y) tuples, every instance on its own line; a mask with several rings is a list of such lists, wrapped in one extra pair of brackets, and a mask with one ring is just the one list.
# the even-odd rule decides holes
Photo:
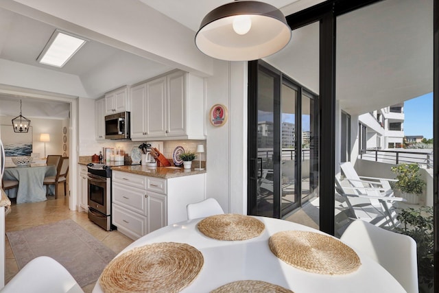
[(114, 171), (121, 171), (163, 179), (206, 173), (205, 169), (195, 170), (193, 168), (183, 169), (182, 167), (147, 167), (145, 165), (111, 167), (111, 169)]

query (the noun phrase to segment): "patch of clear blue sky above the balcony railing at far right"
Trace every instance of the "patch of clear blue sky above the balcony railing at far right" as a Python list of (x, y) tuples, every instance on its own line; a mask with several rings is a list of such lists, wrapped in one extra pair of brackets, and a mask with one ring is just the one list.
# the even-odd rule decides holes
[(433, 138), (433, 93), (404, 102), (404, 135)]

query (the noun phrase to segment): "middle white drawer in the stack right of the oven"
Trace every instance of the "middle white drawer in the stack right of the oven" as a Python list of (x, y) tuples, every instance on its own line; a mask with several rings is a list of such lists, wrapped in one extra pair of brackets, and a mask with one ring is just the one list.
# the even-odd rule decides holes
[(147, 215), (147, 199), (145, 191), (141, 189), (115, 182), (112, 184), (112, 202), (141, 215)]

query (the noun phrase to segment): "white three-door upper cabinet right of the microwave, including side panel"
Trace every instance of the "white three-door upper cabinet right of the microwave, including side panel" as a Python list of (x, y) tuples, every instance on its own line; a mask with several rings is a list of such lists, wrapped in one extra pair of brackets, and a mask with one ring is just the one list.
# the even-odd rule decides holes
[(131, 139), (206, 139), (203, 79), (172, 71), (130, 89)]

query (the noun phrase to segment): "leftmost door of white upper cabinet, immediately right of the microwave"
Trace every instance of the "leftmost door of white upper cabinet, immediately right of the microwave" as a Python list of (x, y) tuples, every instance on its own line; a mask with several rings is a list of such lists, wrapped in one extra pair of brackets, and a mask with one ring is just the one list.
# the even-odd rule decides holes
[(146, 135), (146, 84), (130, 89), (131, 138), (143, 138)]

